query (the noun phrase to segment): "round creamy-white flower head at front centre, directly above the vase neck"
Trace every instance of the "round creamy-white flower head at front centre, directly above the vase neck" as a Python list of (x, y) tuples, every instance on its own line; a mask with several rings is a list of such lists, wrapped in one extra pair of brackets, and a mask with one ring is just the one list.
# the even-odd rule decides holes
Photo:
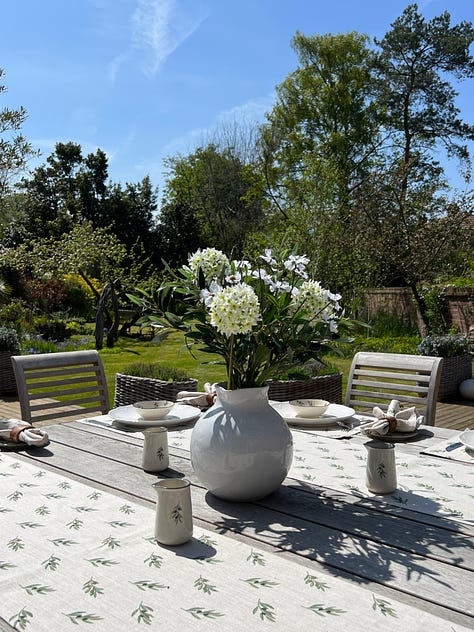
[(254, 290), (245, 283), (224, 288), (210, 306), (211, 325), (226, 336), (247, 334), (260, 320), (260, 305)]

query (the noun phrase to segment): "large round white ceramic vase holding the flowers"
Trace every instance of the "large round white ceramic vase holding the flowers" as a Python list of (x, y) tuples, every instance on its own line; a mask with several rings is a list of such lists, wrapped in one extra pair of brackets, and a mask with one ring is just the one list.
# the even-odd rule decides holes
[(196, 422), (191, 462), (199, 481), (224, 500), (248, 501), (275, 491), (290, 469), (293, 437), (268, 402), (268, 386), (228, 391)]

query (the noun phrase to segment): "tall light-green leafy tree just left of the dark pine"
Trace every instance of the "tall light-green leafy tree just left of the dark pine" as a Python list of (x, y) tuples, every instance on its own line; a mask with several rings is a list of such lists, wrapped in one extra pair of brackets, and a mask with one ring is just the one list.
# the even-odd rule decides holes
[(262, 127), (263, 167), (286, 238), (310, 255), (326, 286), (347, 294), (360, 282), (354, 195), (380, 139), (374, 53), (358, 33), (297, 33), (292, 45), (299, 67), (277, 87)]

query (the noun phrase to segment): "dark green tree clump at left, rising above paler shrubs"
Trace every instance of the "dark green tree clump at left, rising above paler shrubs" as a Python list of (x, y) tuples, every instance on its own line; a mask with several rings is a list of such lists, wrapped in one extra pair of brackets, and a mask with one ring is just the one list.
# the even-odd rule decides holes
[(76, 223), (90, 221), (94, 228), (110, 230), (129, 250), (146, 245), (155, 229), (156, 189), (149, 177), (125, 189), (107, 177), (101, 149), (84, 157), (77, 143), (56, 143), (46, 165), (21, 183), (23, 210), (9, 229), (10, 244), (25, 235), (59, 237)]

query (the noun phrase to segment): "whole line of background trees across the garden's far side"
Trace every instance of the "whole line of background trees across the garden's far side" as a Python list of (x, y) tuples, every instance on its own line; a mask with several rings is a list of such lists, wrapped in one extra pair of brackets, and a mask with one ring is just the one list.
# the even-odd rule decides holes
[[(451, 25), (448, 12), (427, 21), (416, 4), (380, 40), (297, 32), (298, 66), (276, 86), (266, 121), (238, 121), (169, 157), (159, 208), (149, 177), (111, 183), (105, 153), (83, 156), (72, 142), (58, 143), (46, 164), (18, 180), (34, 155), (18, 132), (26, 114), (3, 110), (4, 275), (20, 259), (24, 274), (45, 274), (38, 252), (47, 246), (48, 257), (52, 244), (60, 256), (49, 255), (50, 272), (79, 270), (127, 286), (157, 282), (162, 260), (182, 264), (199, 247), (230, 257), (291, 248), (310, 257), (312, 274), (346, 304), (365, 288), (410, 287), (429, 330), (423, 286), (474, 279), (474, 125), (462, 120), (454, 86), (474, 76), (473, 41), (471, 22)], [(449, 187), (450, 159), (463, 192)], [(94, 244), (81, 240), (95, 231), (105, 237), (92, 256)]]

